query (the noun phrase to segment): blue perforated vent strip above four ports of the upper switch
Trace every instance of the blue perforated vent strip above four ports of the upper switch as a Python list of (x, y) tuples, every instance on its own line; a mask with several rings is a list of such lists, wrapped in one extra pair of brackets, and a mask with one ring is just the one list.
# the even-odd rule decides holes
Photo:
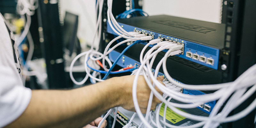
[(201, 45), (192, 44), (192, 43), (187, 42), (186, 47), (190, 48), (190, 49), (200, 51), (200, 52), (204, 52), (204, 53), (207, 53), (207, 54), (211, 54), (213, 56), (217, 55), (217, 50), (216, 49), (208, 48), (208, 47), (205, 47), (205, 46), (201, 46)]

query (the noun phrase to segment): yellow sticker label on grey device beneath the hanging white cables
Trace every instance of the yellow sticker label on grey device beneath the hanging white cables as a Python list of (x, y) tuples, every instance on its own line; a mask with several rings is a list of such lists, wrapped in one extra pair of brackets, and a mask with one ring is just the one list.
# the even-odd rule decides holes
[[(165, 104), (163, 103), (162, 106), (161, 106), (161, 108), (160, 108), (160, 113), (159, 113), (159, 115), (160, 115), (160, 116), (163, 116), (163, 117), (164, 117), (164, 106), (165, 106)], [(181, 110), (181, 111), (184, 111), (184, 110), (182, 110), (182, 109), (180, 109), (180, 108), (177, 108), (177, 109), (179, 109), (179, 110)], [(184, 112), (185, 112), (185, 111), (184, 111)], [(166, 116), (165, 116), (165, 118), (166, 118), (167, 120), (169, 120), (170, 122), (172, 122), (173, 124), (178, 123), (178, 122), (180, 122), (180, 121), (186, 119), (186, 117), (180, 116), (179, 114), (175, 113), (174, 111), (172, 111), (172, 110), (171, 110), (170, 108), (168, 108), (168, 107), (167, 107), (167, 109), (166, 109)]]

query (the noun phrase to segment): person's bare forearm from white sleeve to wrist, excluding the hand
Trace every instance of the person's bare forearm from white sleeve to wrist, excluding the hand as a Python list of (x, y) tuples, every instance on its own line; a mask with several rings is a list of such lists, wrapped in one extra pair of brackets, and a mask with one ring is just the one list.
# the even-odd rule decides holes
[(7, 127), (82, 127), (120, 106), (115, 78), (79, 89), (35, 90), (24, 113)]

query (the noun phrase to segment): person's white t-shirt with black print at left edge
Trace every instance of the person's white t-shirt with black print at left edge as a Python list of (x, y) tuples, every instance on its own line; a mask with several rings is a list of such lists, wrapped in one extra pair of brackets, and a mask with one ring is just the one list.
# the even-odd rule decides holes
[(14, 36), (0, 13), (0, 127), (12, 123), (27, 108), (31, 90), (22, 84)]

